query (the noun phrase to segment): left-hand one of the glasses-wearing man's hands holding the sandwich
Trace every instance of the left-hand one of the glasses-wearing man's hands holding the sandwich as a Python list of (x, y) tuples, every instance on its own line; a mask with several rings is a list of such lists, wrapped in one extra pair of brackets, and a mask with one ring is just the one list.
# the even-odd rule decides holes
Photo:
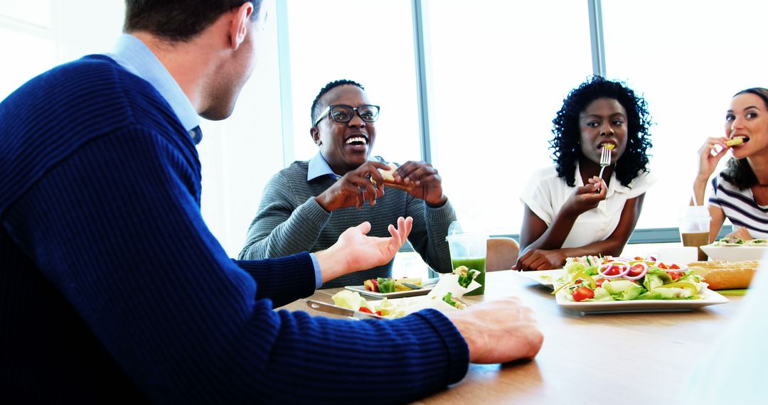
[[(384, 179), (379, 169), (388, 169), (385, 163), (369, 161), (357, 169), (347, 172), (326, 191), (316, 196), (317, 203), (328, 212), (355, 206), (358, 209), (366, 203), (376, 205), (376, 198), (384, 195)], [(373, 186), (371, 179), (376, 181)]]

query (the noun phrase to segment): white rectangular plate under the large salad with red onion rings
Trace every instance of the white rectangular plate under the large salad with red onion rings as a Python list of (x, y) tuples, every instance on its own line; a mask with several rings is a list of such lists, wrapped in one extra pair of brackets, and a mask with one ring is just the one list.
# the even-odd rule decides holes
[[(564, 291), (564, 290), (563, 290)], [(596, 301), (573, 302), (557, 295), (558, 305), (584, 314), (613, 314), (617, 312), (670, 312), (693, 311), (707, 305), (725, 304), (728, 298), (717, 292), (705, 289), (699, 300), (632, 300), (632, 301)]]

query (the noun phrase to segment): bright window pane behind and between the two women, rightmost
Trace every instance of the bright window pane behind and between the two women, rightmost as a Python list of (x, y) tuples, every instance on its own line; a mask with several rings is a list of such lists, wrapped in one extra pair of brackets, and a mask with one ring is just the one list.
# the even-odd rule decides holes
[(690, 199), (697, 150), (707, 137), (723, 136), (730, 98), (766, 86), (768, 54), (761, 43), (768, 3), (602, 4), (607, 76), (644, 93), (657, 123), (650, 166), (658, 183), (647, 193), (637, 228), (677, 226), (675, 208)]

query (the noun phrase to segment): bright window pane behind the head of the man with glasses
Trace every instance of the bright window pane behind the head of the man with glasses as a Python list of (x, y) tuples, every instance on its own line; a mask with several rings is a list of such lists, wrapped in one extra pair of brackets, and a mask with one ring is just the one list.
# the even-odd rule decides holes
[(372, 155), (420, 160), (410, 0), (292, 0), (288, 25), (295, 160), (317, 153), (310, 107), (338, 79), (362, 84), (381, 106)]

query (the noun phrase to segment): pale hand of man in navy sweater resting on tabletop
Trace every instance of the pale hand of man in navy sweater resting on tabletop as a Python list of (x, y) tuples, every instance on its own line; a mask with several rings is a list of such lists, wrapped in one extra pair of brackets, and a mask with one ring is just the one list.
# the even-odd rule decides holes
[(469, 346), (469, 361), (494, 364), (533, 358), (544, 335), (531, 308), (519, 298), (503, 298), (445, 314)]

